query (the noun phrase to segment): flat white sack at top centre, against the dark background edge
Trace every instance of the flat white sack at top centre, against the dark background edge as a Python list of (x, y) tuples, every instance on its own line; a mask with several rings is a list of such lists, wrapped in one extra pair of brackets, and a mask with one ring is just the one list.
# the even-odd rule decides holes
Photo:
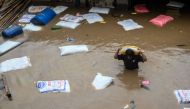
[(110, 11), (109, 8), (100, 8), (100, 7), (92, 7), (89, 12), (100, 13), (100, 14), (108, 14)]

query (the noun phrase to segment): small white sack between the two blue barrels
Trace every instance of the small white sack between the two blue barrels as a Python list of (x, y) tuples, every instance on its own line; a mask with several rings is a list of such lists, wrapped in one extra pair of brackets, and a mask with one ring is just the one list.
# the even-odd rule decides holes
[(32, 23), (26, 24), (23, 28), (24, 31), (40, 31), (41, 29), (42, 29), (42, 27), (36, 26)]

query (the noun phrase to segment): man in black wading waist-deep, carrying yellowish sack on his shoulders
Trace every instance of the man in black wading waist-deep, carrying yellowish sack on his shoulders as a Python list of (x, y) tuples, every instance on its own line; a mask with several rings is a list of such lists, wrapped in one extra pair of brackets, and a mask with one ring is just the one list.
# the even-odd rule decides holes
[(138, 69), (139, 62), (147, 61), (143, 51), (136, 46), (123, 46), (119, 48), (114, 56), (115, 59), (123, 60), (125, 68), (129, 70)]

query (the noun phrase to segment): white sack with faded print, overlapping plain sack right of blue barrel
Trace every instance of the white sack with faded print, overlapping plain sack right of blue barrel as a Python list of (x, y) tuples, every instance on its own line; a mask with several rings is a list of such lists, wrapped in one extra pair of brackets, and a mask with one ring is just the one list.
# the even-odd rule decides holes
[(66, 14), (64, 15), (63, 17), (60, 18), (61, 20), (64, 20), (64, 21), (68, 21), (68, 22), (80, 22), (82, 20), (84, 20), (84, 18), (82, 16), (73, 16), (73, 15), (70, 15), (70, 14)]

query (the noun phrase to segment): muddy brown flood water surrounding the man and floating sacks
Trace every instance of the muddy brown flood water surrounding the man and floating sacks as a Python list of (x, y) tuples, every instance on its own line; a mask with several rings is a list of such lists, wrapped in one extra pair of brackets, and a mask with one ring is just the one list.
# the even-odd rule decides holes
[[(85, 10), (81, 10), (85, 12)], [(0, 57), (0, 62), (28, 56), (32, 67), (5, 73), (13, 101), (0, 100), (0, 109), (122, 109), (131, 100), (137, 109), (183, 109), (173, 94), (175, 89), (189, 89), (190, 15), (176, 16), (163, 28), (148, 21), (158, 14), (137, 14), (121, 11), (124, 17), (103, 15), (106, 24), (83, 23), (75, 30), (51, 30), (60, 16), (75, 14), (68, 9), (40, 32), (25, 33), (29, 41)], [(132, 18), (143, 29), (125, 32), (118, 20)], [(67, 37), (76, 42), (66, 41)], [(2, 40), (1, 40), (2, 42)], [(60, 56), (59, 46), (88, 44), (90, 52)], [(118, 47), (131, 44), (145, 50), (148, 58), (140, 69), (125, 70), (122, 61), (113, 55)], [(176, 45), (185, 45), (178, 47)], [(97, 91), (91, 85), (97, 72), (114, 77), (114, 83)], [(71, 93), (38, 92), (38, 80), (67, 79)], [(139, 80), (150, 80), (149, 90), (139, 87)]]

